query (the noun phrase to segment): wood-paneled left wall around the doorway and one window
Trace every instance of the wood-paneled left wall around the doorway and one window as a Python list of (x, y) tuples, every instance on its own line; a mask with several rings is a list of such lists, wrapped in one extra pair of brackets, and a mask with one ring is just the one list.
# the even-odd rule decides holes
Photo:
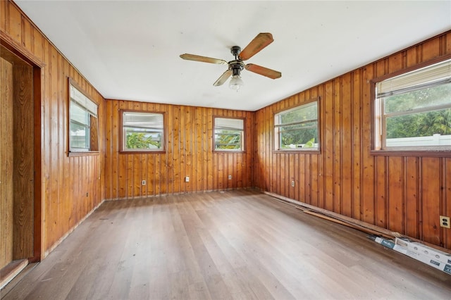
[[(43, 258), (104, 199), (104, 99), (13, 1), (0, 1), (0, 20), (2, 44), (40, 68), (37, 80), (40, 89), (34, 91), (39, 94), (37, 99), (40, 98), (34, 112), (35, 139), (39, 139), (40, 149), (34, 151), (41, 157), (35, 167), (41, 178), (37, 196), (41, 199), (40, 256)], [(101, 150), (98, 155), (68, 156), (68, 77), (99, 104)]]

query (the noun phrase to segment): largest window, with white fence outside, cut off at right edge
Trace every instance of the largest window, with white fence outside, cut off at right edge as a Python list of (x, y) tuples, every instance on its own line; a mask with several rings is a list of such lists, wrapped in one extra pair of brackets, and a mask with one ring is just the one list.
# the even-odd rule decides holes
[(451, 60), (376, 83), (376, 150), (451, 150)]

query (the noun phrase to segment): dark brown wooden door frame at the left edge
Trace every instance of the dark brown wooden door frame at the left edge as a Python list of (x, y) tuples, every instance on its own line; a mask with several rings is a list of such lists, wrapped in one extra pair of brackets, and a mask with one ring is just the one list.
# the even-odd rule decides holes
[(42, 68), (44, 63), (36, 56), (17, 45), (11, 38), (0, 32), (0, 44), (12, 54), (25, 61), (32, 67), (33, 76), (33, 135), (34, 135), (34, 199), (33, 199), (33, 256), (28, 258), (30, 263), (41, 261), (44, 251), (42, 249), (42, 127), (41, 127), (41, 101), (42, 101)]

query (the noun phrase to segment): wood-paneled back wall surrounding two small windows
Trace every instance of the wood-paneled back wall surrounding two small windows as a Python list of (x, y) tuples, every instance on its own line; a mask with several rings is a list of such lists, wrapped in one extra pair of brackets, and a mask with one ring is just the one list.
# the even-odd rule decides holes
[[(164, 113), (166, 152), (120, 153), (121, 109)], [(251, 112), (107, 100), (105, 116), (106, 199), (252, 187)], [(213, 151), (214, 116), (245, 118), (245, 152)]]

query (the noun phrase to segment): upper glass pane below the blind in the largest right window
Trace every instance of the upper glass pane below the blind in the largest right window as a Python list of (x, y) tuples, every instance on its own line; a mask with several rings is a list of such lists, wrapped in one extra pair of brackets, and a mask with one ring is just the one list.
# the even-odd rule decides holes
[(385, 113), (451, 104), (451, 83), (384, 98)]

